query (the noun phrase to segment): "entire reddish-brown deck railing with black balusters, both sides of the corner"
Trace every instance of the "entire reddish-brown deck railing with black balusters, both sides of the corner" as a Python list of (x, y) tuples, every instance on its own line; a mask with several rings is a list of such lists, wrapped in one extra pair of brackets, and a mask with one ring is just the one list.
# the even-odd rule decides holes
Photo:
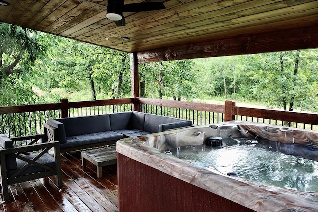
[(224, 105), (215, 105), (126, 98), (83, 102), (68, 102), (67, 99), (61, 99), (61, 103), (54, 104), (0, 107), (0, 133), (11, 138), (42, 134), (43, 123), (47, 119), (132, 110), (187, 119), (195, 125), (243, 120), (318, 130), (318, 114), (238, 107), (233, 101), (225, 101)]

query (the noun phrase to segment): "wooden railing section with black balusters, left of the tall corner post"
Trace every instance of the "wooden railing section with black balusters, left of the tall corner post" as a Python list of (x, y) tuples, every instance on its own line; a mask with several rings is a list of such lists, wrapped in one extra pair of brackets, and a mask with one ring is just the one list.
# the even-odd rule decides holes
[(132, 98), (82, 102), (61, 99), (60, 103), (0, 107), (0, 133), (11, 138), (42, 134), (48, 119), (131, 111), (133, 103)]

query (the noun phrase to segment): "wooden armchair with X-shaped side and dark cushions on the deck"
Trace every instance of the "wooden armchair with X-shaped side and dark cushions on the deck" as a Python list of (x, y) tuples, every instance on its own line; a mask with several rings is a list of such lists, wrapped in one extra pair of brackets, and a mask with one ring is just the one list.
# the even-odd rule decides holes
[[(0, 134), (0, 182), (3, 200), (9, 199), (8, 186), (15, 183), (57, 175), (57, 186), (61, 187), (59, 142), (34, 144), (39, 139), (46, 141), (44, 134), (12, 139)], [(28, 145), (13, 145), (13, 141), (27, 140), (31, 140)], [(54, 157), (48, 153), (51, 148), (54, 148)]]

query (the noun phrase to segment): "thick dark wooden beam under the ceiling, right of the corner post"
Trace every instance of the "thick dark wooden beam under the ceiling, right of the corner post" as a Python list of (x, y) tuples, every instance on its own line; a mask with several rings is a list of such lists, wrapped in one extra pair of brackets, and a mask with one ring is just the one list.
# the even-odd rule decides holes
[(318, 48), (317, 25), (142, 51), (137, 57), (138, 63), (147, 63), (308, 48)]

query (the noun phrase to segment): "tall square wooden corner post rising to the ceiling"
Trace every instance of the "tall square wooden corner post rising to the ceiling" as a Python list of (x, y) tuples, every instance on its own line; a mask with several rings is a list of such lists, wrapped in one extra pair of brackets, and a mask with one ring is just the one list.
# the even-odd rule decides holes
[(131, 82), (131, 97), (134, 98), (133, 110), (139, 111), (139, 104), (136, 103), (139, 97), (139, 76), (138, 76), (138, 58), (137, 53), (130, 54), (130, 82)]

